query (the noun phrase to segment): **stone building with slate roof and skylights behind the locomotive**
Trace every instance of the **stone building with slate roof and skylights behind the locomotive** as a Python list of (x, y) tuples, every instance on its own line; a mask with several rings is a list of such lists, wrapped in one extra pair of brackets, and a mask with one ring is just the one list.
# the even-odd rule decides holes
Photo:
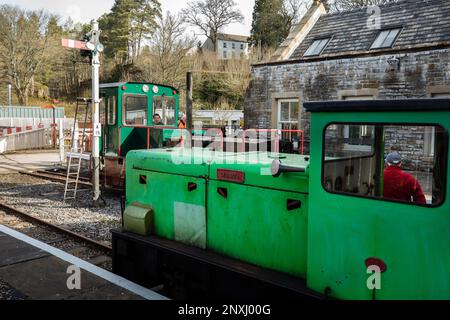
[[(450, 97), (450, 1), (401, 0), (334, 14), (319, 3), (270, 62), (253, 66), (245, 126), (301, 129), (308, 140), (305, 101), (445, 96)], [(426, 130), (414, 138), (429, 155), (432, 139)], [(406, 148), (408, 142), (398, 143)]]

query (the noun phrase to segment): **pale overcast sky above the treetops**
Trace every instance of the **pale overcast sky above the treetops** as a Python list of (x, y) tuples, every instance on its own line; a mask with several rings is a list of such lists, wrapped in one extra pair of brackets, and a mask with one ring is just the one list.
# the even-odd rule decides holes
[[(163, 12), (179, 12), (186, 7), (188, 0), (159, 0)], [(236, 1), (236, 0), (235, 0)], [(26, 9), (46, 9), (63, 17), (72, 17), (75, 21), (89, 22), (109, 12), (114, 0), (0, 0), (0, 4), (18, 5)], [(245, 17), (244, 24), (230, 25), (225, 29), (227, 33), (249, 35), (252, 24), (252, 13), (255, 0), (237, 0), (239, 9)], [(191, 31), (192, 32), (192, 31)]]

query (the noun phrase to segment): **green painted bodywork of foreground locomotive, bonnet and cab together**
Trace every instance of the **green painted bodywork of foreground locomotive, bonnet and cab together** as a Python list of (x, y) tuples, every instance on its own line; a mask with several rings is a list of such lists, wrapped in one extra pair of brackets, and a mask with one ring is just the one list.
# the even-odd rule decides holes
[[(450, 299), (450, 188), (439, 207), (325, 191), (323, 133), (330, 123), (431, 124), (448, 131), (450, 112), (312, 113), (311, 160), (294, 155), (281, 159), (306, 172), (279, 178), (261, 174), (274, 160), (268, 153), (132, 151), (127, 157), (127, 203), (154, 208), (155, 233), (172, 240), (176, 233), (200, 230), (203, 223), (177, 228), (176, 204), (203, 206), (206, 243), (192, 245), (301, 277), (309, 288), (333, 298), (373, 299), (365, 261), (379, 258), (387, 270), (376, 299)], [(243, 172), (245, 180), (219, 181), (218, 169)], [(140, 175), (147, 176), (146, 185), (139, 183)], [(192, 182), (197, 189), (189, 192)], [(227, 197), (218, 188), (225, 188)], [(301, 201), (302, 207), (288, 211), (287, 200)]]

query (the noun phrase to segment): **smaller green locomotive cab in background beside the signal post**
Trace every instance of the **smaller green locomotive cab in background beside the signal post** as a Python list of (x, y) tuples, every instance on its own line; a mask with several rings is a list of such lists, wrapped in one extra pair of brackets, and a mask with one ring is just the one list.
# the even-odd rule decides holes
[[(171, 137), (178, 122), (179, 92), (159, 84), (124, 82), (100, 85), (100, 95), (101, 175), (106, 187), (123, 189), (129, 151), (175, 143)], [(161, 118), (158, 125), (153, 123), (155, 114)]]

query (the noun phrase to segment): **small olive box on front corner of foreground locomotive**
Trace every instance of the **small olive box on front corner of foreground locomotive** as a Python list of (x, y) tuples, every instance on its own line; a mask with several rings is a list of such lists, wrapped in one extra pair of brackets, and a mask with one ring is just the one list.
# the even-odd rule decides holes
[(141, 236), (151, 234), (153, 224), (153, 209), (142, 203), (133, 202), (123, 213), (125, 230)]

